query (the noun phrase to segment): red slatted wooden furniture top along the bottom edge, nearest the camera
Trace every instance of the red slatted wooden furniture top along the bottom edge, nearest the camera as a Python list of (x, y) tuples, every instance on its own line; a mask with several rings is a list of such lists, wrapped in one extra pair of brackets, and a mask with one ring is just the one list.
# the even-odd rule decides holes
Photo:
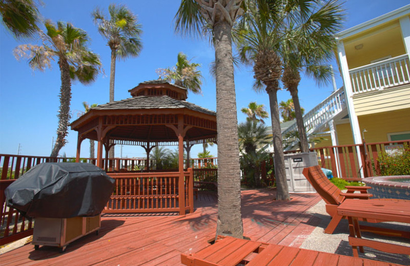
[(214, 245), (197, 253), (181, 254), (181, 262), (188, 266), (235, 266), (238, 263), (247, 266), (399, 265), (222, 236), (218, 236)]

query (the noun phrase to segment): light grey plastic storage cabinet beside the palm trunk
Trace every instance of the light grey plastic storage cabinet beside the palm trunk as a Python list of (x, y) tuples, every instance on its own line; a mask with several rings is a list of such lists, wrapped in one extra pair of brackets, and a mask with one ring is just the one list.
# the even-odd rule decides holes
[(316, 153), (284, 154), (284, 161), (289, 192), (316, 192), (302, 173), (305, 167), (318, 165)]

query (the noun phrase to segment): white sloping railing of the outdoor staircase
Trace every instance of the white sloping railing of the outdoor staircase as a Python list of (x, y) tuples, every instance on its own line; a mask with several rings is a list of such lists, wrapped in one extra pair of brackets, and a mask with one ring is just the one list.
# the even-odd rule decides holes
[[(332, 118), (342, 112), (345, 106), (346, 100), (344, 97), (343, 87), (340, 87), (339, 90), (333, 92), (329, 97), (324, 99), (321, 103), (316, 105), (315, 108), (303, 116), (303, 124), (306, 129), (306, 135), (311, 135), (322, 125), (329, 122)], [(284, 138), (287, 133), (295, 130), (297, 130), (296, 123), (292, 124), (282, 132), (284, 143), (296, 142), (295, 138)], [(291, 148), (290, 146), (288, 147)]]

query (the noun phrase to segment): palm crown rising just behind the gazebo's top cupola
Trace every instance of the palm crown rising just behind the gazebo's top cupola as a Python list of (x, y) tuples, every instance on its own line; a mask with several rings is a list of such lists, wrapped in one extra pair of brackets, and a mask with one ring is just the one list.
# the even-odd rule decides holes
[(178, 53), (176, 65), (173, 68), (157, 69), (159, 78), (168, 82), (174, 82), (175, 85), (185, 87), (189, 91), (200, 94), (202, 85), (201, 71), (197, 70), (201, 66), (198, 63), (191, 63), (187, 55)]

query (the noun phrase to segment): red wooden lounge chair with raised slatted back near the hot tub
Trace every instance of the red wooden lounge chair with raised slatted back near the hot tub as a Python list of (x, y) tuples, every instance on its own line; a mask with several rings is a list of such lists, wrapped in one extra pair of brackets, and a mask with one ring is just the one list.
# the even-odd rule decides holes
[[(340, 220), (343, 218), (342, 215), (337, 213), (337, 207), (346, 198), (367, 200), (373, 196), (367, 193), (367, 189), (370, 189), (370, 187), (346, 186), (347, 192), (343, 193), (327, 179), (327, 176), (324, 175), (321, 167), (318, 165), (304, 168), (303, 175), (326, 203), (326, 212), (332, 216), (332, 220), (324, 230), (326, 234), (333, 234)], [(360, 193), (354, 193), (355, 191)]]

